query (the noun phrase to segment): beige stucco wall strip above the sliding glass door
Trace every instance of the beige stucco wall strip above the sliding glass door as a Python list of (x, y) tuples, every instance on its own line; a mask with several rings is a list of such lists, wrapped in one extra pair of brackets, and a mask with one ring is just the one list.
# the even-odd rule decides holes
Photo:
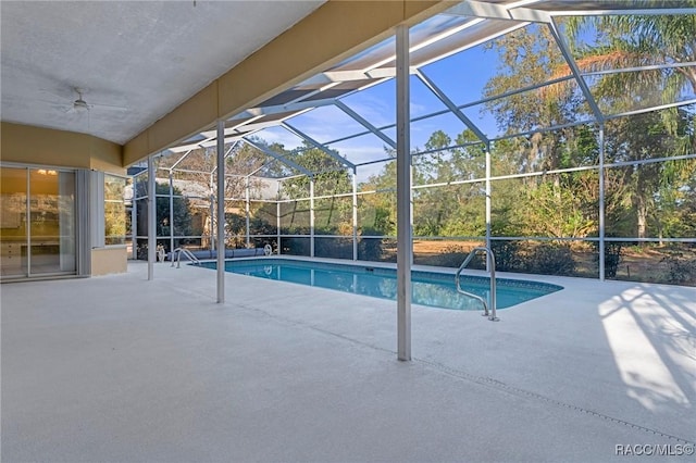
[(123, 147), (73, 132), (2, 122), (0, 160), (125, 174)]

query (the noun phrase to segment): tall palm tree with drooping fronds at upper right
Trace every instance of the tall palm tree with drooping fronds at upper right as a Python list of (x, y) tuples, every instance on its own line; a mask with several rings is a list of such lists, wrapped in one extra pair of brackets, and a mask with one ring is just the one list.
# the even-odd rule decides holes
[[(688, 3), (696, 4), (696, 0)], [(579, 58), (575, 62), (581, 73), (589, 74), (586, 78), (592, 83), (593, 95), (600, 108), (611, 113), (672, 103), (684, 95), (696, 95), (696, 14), (577, 16), (567, 21), (566, 30), (571, 43), (582, 43), (583, 34), (587, 32), (596, 33), (594, 42), (576, 47)], [(660, 68), (659, 65), (669, 67)], [(650, 67), (593, 75), (644, 66)], [(557, 74), (561, 73), (567, 74), (568, 68), (558, 68)], [(557, 85), (550, 91), (563, 91), (561, 89), (562, 86)], [(667, 155), (666, 152), (679, 155), (696, 151), (692, 113), (688, 108), (672, 108), (660, 112), (659, 117), (645, 115), (630, 121), (613, 121), (612, 124), (621, 125), (614, 134), (620, 134), (631, 160), (656, 157), (656, 153), (658, 157)], [(646, 137), (635, 133), (645, 130), (654, 135), (661, 133), (657, 138), (668, 138), (671, 142), (659, 141), (659, 147), (657, 142), (651, 147), (641, 145), (645, 143)], [(685, 175), (691, 175), (694, 162), (664, 163), (662, 168), (645, 164), (631, 172), (634, 185), (631, 200), (635, 208), (638, 238), (646, 236), (648, 207), (655, 191), (664, 182), (680, 182)]]

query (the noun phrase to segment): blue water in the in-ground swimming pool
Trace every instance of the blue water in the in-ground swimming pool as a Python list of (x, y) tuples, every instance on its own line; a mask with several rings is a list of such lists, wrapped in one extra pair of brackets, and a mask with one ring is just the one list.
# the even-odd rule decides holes
[[(202, 265), (216, 268), (215, 262), (206, 262)], [(396, 270), (394, 268), (262, 258), (227, 261), (225, 272), (381, 299), (396, 299)], [(413, 271), (411, 281), (413, 303), (453, 310), (482, 309), (480, 301), (457, 292), (455, 275)], [(506, 278), (497, 278), (496, 283), (498, 309), (509, 308), (563, 289), (561, 286), (546, 283)], [(487, 299), (490, 292), (490, 279), (462, 275), (461, 287), (465, 291)]]

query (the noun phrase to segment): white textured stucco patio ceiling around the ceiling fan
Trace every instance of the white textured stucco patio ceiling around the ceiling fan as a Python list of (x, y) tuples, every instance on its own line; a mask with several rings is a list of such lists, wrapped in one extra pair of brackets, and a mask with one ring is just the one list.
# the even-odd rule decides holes
[(2, 1), (0, 115), (125, 143), (322, 3)]

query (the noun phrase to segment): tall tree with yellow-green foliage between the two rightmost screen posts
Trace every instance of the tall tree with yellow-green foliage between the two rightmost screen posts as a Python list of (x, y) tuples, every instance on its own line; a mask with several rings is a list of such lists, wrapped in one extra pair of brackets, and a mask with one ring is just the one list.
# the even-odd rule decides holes
[[(551, 95), (545, 87), (495, 98), (547, 82), (564, 63), (548, 28), (529, 26), (489, 45), (498, 73), (485, 87), (500, 129), (513, 136), (492, 149), (494, 175), (514, 175), (596, 164), (598, 145), (589, 126), (569, 126), (587, 114), (582, 95)], [(539, 130), (560, 126), (552, 130)], [(538, 130), (538, 132), (535, 132)], [(496, 236), (584, 237), (597, 226), (598, 179), (556, 174), (493, 184), (492, 233)]]

